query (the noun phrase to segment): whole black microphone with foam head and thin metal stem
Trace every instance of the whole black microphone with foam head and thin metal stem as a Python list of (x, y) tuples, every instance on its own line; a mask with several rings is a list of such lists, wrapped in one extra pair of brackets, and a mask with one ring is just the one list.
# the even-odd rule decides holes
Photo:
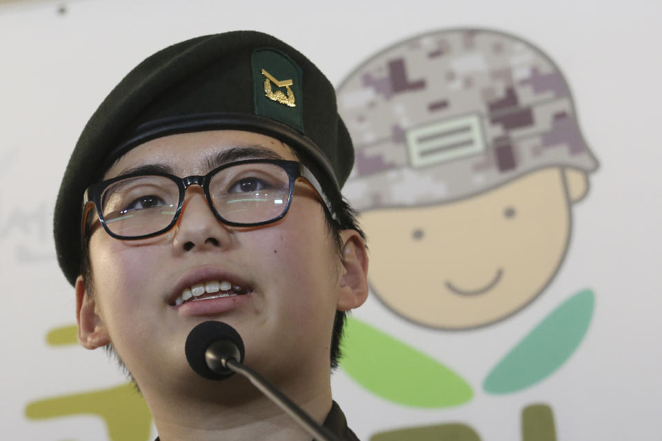
[(208, 380), (225, 380), (234, 373), (239, 373), (248, 378), (257, 389), (283, 409), (315, 440), (340, 441), (329, 429), (317, 424), (308, 413), (259, 373), (241, 364), (244, 356), (243, 340), (227, 323), (210, 320), (194, 327), (186, 338), (184, 352), (191, 369), (199, 376)]

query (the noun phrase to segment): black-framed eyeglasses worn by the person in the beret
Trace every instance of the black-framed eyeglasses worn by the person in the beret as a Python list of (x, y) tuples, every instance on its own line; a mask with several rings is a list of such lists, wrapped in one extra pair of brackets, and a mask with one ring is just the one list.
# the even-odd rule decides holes
[(265, 225), (287, 214), (298, 178), (310, 183), (332, 213), (321, 185), (304, 165), (258, 159), (228, 163), (205, 176), (134, 173), (90, 185), (83, 199), (83, 234), (90, 227), (88, 218), (94, 220), (88, 216), (92, 207), (103, 229), (114, 238), (143, 239), (168, 232), (177, 223), (189, 185), (202, 187), (222, 223)]

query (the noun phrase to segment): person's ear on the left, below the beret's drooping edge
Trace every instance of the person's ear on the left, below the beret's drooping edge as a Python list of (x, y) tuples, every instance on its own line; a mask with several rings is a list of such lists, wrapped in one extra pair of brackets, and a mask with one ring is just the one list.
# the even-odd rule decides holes
[(78, 322), (78, 341), (86, 349), (97, 349), (110, 343), (106, 325), (103, 325), (97, 311), (97, 301), (88, 293), (83, 276), (76, 279), (76, 320)]

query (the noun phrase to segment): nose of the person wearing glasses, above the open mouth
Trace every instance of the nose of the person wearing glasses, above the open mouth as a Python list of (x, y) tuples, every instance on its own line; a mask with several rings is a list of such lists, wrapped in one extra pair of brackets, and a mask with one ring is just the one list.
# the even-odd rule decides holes
[(174, 249), (188, 253), (229, 247), (230, 231), (214, 216), (202, 188), (189, 187), (186, 193), (175, 227)]

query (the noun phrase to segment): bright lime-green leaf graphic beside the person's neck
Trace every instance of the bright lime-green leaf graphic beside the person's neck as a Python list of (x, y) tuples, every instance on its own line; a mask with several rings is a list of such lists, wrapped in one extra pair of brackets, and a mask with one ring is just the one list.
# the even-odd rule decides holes
[(357, 319), (343, 339), (343, 369), (381, 398), (407, 406), (457, 406), (472, 389), (448, 367)]

